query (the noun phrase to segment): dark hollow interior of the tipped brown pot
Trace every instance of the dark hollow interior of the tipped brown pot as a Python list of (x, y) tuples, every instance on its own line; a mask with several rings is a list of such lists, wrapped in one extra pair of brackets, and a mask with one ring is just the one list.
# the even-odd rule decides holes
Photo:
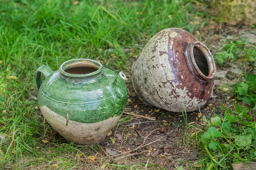
[(194, 55), (194, 58), (195, 58), (195, 62), (198, 66), (198, 69), (205, 76), (208, 76), (209, 75), (208, 63), (207, 63), (207, 60), (206, 60), (203, 52), (201, 52), (201, 50), (198, 47), (194, 46), (193, 55)]

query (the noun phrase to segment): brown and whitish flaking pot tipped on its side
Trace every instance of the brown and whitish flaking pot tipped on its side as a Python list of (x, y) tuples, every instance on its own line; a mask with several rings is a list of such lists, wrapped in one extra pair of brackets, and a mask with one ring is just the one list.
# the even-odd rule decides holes
[(132, 83), (148, 106), (191, 112), (209, 100), (214, 75), (209, 49), (189, 32), (169, 28), (145, 45), (133, 65)]

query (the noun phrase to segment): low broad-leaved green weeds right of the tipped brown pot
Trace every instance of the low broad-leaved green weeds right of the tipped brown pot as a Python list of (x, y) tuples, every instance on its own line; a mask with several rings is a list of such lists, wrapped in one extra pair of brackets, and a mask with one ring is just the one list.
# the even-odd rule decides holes
[[(229, 58), (230, 54), (232, 58)], [(229, 60), (248, 61), (246, 64), (240, 63), (246, 67), (247, 64), (255, 64), (255, 54), (256, 48), (252, 44), (231, 41), (224, 45), (223, 52), (215, 55), (215, 60), (221, 59), (218, 62), (221, 66)], [(255, 65), (253, 69), (256, 69)], [(229, 170), (233, 163), (250, 163), (256, 160), (256, 74), (245, 73), (241, 80), (235, 84), (225, 84), (229, 86), (225, 92), (227, 99), (230, 96), (233, 98), (220, 107), (212, 108), (208, 118), (204, 115), (204, 124), (198, 127), (186, 125), (186, 144), (202, 151), (200, 160), (186, 162), (190, 164), (186, 168), (199, 165), (200, 169), (205, 170)], [(186, 117), (184, 119), (186, 122)], [(202, 160), (204, 163), (201, 163)]]

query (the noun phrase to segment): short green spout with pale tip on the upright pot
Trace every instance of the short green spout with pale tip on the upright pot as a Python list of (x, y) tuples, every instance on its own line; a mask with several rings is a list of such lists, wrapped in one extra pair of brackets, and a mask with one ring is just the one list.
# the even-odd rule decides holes
[(125, 86), (126, 76), (123, 72), (119, 72), (116, 75), (115, 80), (112, 83), (112, 88), (116, 92), (117, 97), (121, 97), (126, 92), (126, 86)]

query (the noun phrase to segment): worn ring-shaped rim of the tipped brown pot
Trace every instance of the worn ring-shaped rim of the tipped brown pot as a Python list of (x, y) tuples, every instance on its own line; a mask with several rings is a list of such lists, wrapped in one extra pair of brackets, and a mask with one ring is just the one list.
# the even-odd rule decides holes
[[(195, 58), (194, 58), (194, 54), (193, 54), (193, 49), (194, 47), (197, 47), (203, 54), (204, 54), (204, 58), (206, 59), (207, 61), (207, 65), (208, 65), (208, 70), (209, 70), (209, 73), (208, 75), (204, 75), (201, 70), (198, 68), (198, 65), (197, 63), (195, 62)], [(200, 41), (195, 41), (195, 42), (192, 42), (191, 43), (191, 46), (190, 46), (190, 58), (192, 60), (192, 64), (193, 64), (193, 67), (195, 68), (195, 70), (198, 72), (198, 74), (206, 79), (206, 80), (209, 80), (209, 79), (212, 79), (214, 78), (214, 75), (215, 75), (215, 72), (216, 72), (216, 68), (215, 68), (215, 62), (214, 62), (214, 59), (212, 57), (212, 54), (210, 52), (210, 50), (207, 48), (207, 46), (204, 45), (204, 43), (201, 43)]]

